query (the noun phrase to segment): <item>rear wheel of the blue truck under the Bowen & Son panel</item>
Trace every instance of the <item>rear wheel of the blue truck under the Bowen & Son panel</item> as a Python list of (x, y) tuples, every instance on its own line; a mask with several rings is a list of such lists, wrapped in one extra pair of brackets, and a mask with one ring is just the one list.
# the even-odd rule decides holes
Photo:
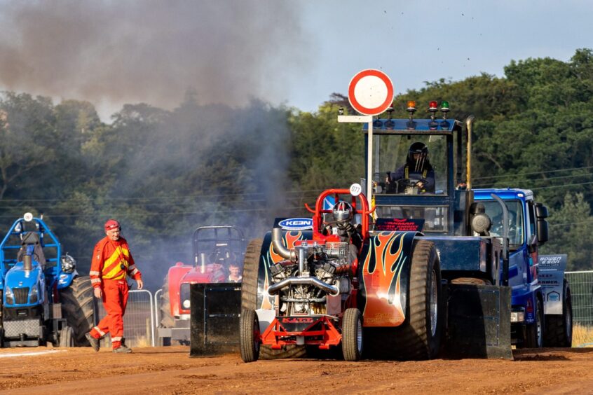
[(573, 301), (571, 287), (564, 280), (562, 315), (545, 315), (545, 347), (571, 347), (573, 345)]

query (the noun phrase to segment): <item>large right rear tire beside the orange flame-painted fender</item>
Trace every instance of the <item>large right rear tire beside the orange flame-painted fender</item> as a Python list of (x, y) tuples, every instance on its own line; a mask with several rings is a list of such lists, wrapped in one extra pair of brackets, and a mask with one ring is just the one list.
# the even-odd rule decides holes
[(435, 358), (441, 341), (442, 305), (441, 270), (435, 244), (414, 240), (407, 317), (395, 328), (365, 330), (369, 356), (406, 361)]

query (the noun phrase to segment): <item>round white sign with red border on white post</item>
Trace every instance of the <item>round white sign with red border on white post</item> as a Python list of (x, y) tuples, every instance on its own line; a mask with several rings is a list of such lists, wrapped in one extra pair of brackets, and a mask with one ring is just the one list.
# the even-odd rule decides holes
[(383, 71), (366, 69), (353, 76), (348, 85), (350, 105), (364, 115), (383, 113), (393, 102), (393, 83)]

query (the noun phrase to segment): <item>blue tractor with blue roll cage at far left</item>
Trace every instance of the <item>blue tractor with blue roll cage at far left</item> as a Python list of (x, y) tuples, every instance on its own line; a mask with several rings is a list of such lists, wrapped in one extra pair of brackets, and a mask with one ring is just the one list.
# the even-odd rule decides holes
[(2, 347), (86, 346), (95, 325), (93, 286), (57, 237), (30, 213), (17, 219), (0, 244)]

